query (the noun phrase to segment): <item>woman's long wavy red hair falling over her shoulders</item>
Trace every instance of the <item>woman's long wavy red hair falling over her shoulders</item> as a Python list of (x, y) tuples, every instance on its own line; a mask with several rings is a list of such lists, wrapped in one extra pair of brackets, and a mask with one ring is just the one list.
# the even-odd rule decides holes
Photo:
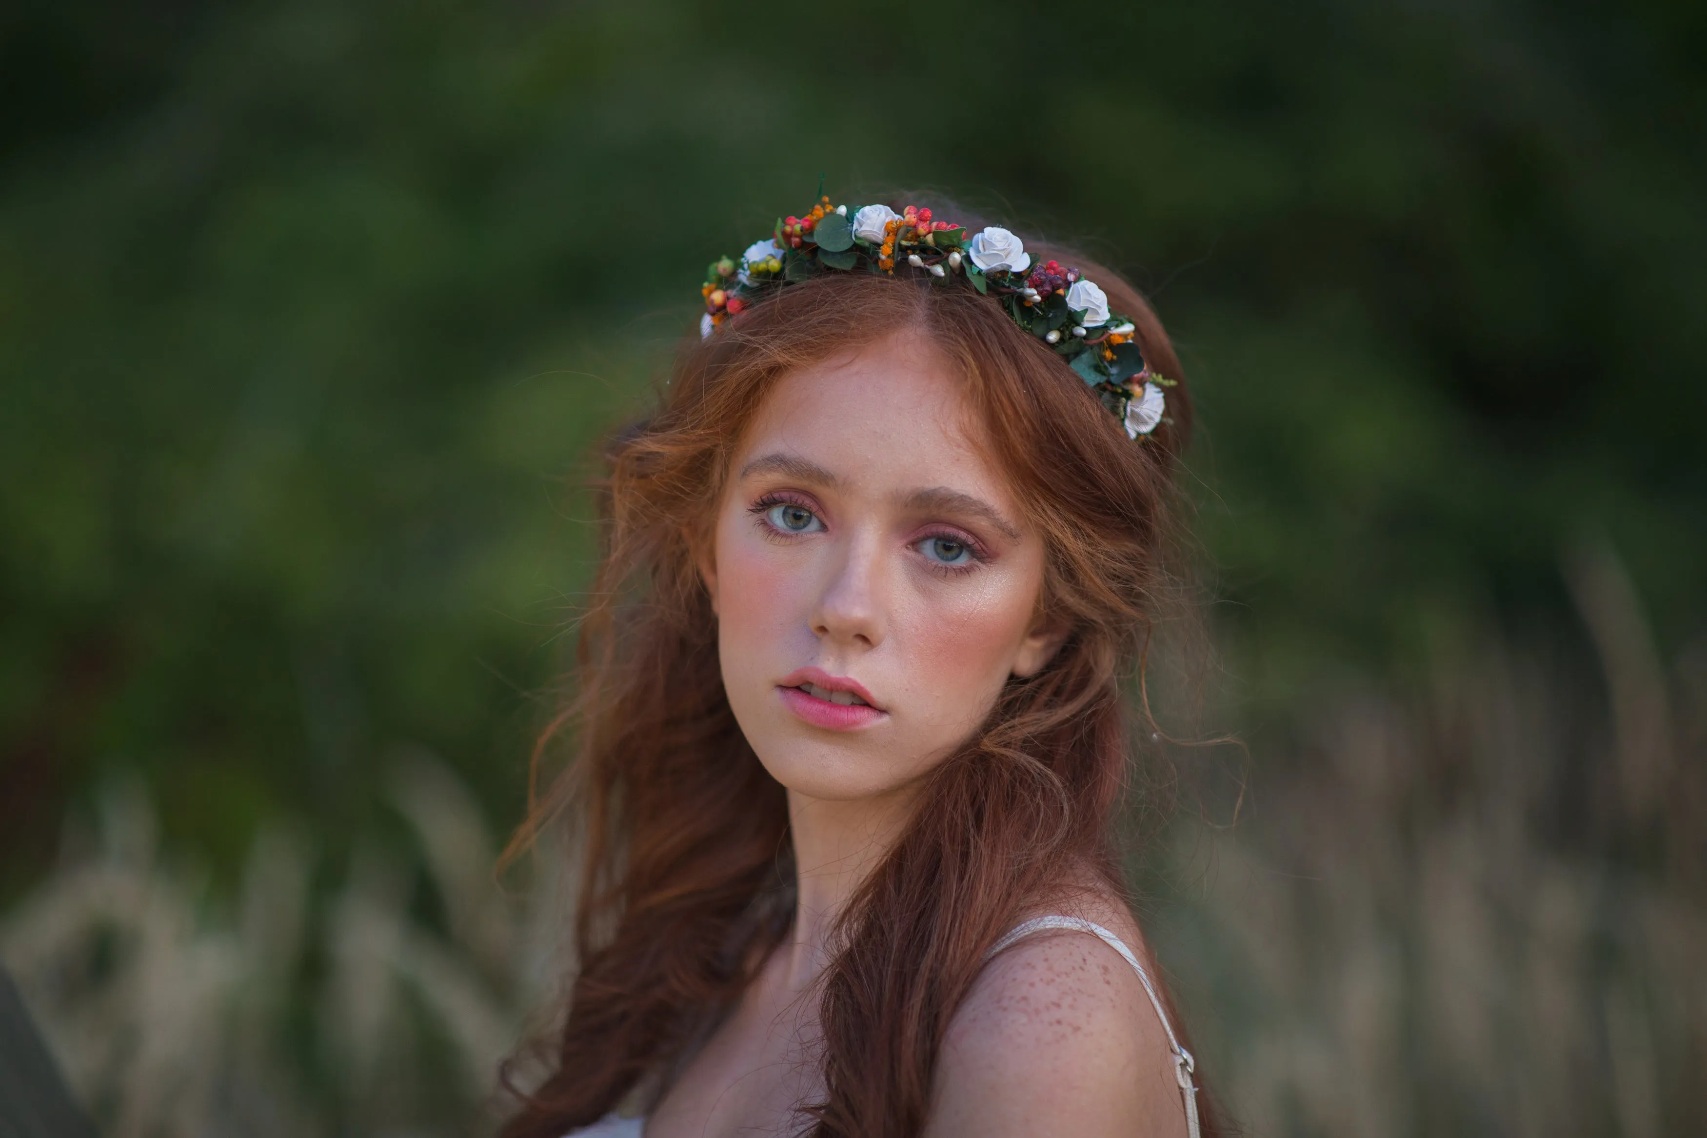
[[(1154, 370), (1183, 379), (1135, 288), (1053, 256), (1133, 317)], [(905, 266), (790, 285), (686, 346), (657, 413), (608, 449), (575, 694), (539, 740), (536, 780), (555, 740), (572, 739), (574, 758), (517, 834), (524, 843), (565, 814), (577, 824), (579, 973), (546, 1046), (551, 1073), (531, 1092), (510, 1087), (521, 1109), (504, 1138), (560, 1138), (667, 1083), (787, 937), (785, 793), (729, 708), (693, 549), (773, 384), (905, 329), (929, 336), (964, 380), (985, 445), (1043, 536), (1040, 606), (1072, 631), (925, 776), (905, 833), (842, 916), (821, 981), (824, 1097), (802, 1107), (802, 1129), (917, 1135), (985, 950), (1087, 872), (1127, 896), (1116, 814), (1137, 773), (1130, 720), (1147, 715), (1137, 710), (1145, 647), (1176, 595), (1186, 387), (1168, 391), (1171, 421), (1137, 444), (1055, 351), (970, 287)], [(1215, 1133), (1209, 1116), (1203, 1131)]]

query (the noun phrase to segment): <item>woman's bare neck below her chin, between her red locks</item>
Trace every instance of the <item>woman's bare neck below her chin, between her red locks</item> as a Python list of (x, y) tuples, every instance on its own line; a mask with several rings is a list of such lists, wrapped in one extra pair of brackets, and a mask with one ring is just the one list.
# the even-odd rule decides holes
[(912, 802), (910, 790), (842, 802), (789, 792), (799, 884), (784, 947), (790, 988), (809, 988), (830, 962), (836, 918), (901, 836)]

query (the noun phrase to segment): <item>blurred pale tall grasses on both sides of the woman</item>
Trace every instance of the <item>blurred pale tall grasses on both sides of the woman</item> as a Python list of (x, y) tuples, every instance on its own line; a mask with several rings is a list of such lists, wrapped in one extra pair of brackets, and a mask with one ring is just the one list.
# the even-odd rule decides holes
[[(1325, 700), (1238, 826), (1185, 817), (1135, 867), (1246, 1133), (1654, 1138), (1707, 1111), (1707, 660), (1659, 660), (1605, 546), (1572, 584), (1610, 722), (1567, 711), (1589, 693), (1545, 653), (1490, 642), (1412, 700)], [(1584, 761), (1586, 833), (1560, 834)], [(108, 1133), (490, 1126), (498, 1060), (560, 1000), (568, 867), (546, 843), (505, 892), (444, 763), (401, 756), (384, 787), (401, 850), (326, 865), (268, 831), (224, 904), (162, 856), (137, 783), (102, 788), (0, 954)]]

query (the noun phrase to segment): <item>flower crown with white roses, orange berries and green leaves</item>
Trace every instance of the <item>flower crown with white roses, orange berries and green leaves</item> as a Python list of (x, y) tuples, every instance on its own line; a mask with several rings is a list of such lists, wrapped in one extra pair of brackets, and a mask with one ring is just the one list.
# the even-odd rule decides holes
[(932, 220), (930, 210), (912, 205), (901, 213), (867, 205), (850, 215), (845, 205), (819, 198), (806, 217), (777, 218), (775, 234), (754, 242), (739, 263), (722, 258), (705, 271), (700, 336), (784, 285), (826, 270), (893, 276), (896, 261), (939, 280), (964, 275), (973, 288), (1000, 299), (1016, 324), (1050, 345), (1096, 391), (1132, 438), (1171, 421), (1164, 387), (1174, 380), (1149, 369), (1132, 321), (1108, 309), (1096, 283), (1055, 261), (1033, 268), (1026, 246), (1005, 229), (992, 225), (968, 237), (961, 225)]

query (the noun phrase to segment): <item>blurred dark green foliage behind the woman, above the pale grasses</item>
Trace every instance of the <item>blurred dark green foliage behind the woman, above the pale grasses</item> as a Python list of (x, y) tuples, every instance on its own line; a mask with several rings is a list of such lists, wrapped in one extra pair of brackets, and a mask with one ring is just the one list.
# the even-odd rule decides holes
[(218, 865), (268, 819), (377, 824), (401, 744), (516, 817), (591, 551), (567, 486), (693, 334), (695, 270), (821, 171), (1151, 292), (1255, 720), (1569, 624), (1584, 524), (1668, 652), (1707, 628), (1687, 5), (1081, 14), (1133, 68), (932, 5), (1070, 77), (1028, 99), (905, 53), (758, 65), (797, 19), (768, 2), (169, 10), (34, 0), (0, 48), (7, 892), (113, 764)]

